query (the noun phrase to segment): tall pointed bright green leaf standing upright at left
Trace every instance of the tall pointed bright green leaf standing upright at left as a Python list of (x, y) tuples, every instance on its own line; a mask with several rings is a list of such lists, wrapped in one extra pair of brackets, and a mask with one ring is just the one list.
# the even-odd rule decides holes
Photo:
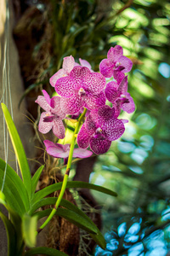
[(1, 105), (3, 108), (3, 114), (8, 127), (8, 132), (11, 138), (11, 142), (14, 147), (14, 153), (16, 154), (16, 157), (20, 166), (20, 172), (23, 178), (23, 182), (26, 186), (29, 199), (31, 199), (31, 191), (32, 191), (31, 190), (31, 172), (28, 165), (28, 161), (26, 159), (26, 153), (20, 141), (20, 136), (18, 134), (18, 131), (16, 130), (16, 127), (14, 125), (14, 121), (11, 118), (10, 113), (8, 112), (8, 108), (3, 103), (1, 103)]

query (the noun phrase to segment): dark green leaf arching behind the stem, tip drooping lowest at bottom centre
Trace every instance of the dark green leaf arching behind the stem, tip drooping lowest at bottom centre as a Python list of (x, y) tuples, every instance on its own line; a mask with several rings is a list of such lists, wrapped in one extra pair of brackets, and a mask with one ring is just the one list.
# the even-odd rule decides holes
[[(57, 197), (43, 198), (41, 201), (38, 201), (35, 205), (32, 206), (30, 214), (35, 212), (40, 207), (44, 207), (44, 206), (48, 206), (48, 205), (54, 205), (56, 200), (57, 200)], [(82, 218), (86, 218), (89, 223), (94, 225), (96, 230), (98, 230), (98, 234), (97, 235), (90, 234), (90, 236), (92, 236), (92, 238), (94, 239), (94, 241), (96, 241), (96, 243), (99, 245), (99, 247), (102, 247), (103, 249), (105, 249), (105, 246), (106, 246), (105, 238), (101, 234), (99, 229), (96, 227), (96, 225), (93, 223), (91, 218), (88, 218), (88, 216), (84, 212), (82, 212), (82, 210), (80, 210), (77, 206), (73, 205), (70, 201), (67, 201), (65, 199), (62, 199), (60, 201), (60, 206), (65, 207), (66, 209), (69, 209), (73, 212), (76, 212), (78, 215), (82, 216)]]

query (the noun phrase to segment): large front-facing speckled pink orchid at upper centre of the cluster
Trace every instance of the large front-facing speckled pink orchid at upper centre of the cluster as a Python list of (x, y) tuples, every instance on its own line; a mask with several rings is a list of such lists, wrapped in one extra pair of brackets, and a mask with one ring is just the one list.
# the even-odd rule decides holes
[(105, 105), (105, 77), (90, 73), (88, 67), (74, 67), (69, 76), (58, 79), (56, 92), (61, 97), (61, 108), (67, 114), (78, 113), (82, 107), (92, 110)]

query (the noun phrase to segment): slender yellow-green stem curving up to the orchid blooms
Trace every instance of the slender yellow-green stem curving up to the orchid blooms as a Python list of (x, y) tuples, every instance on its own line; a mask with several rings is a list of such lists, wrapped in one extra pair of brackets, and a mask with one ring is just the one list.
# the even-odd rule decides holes
[(66, 166), (66, 171), (65, 171), (65, 176), (63, 179), (63, 183), (62, 183), (62, 187), (59, 193), (59, 197), (58, 200), (55, 203), (55, 206), (52, 210), (52, 212), (49, 214), (48, 218), (46, 219), (46, 221), (41, 225), (41, 227), (38, 230), (38, 233), (49, 223), (49, 221), (54, 217), (55, 212), (57, 211), (57, 208), (59, 207), (59, 203), (65, 193), (65, 189), (66, 189), (66, 184), (67, 184), (67, 180), (69, 177), (69, 173), (71, 170), (71, 161), (72, 161), (72, 154), (74, 151), (74, 147), (75, 147), (75, 141), (76, 141), (76, 137), (77, 137), (77, 133), (79, 131), (80, 125), (82, 124), (82, 119), (84, 118), (85, 114), (87, 112), (87, 108), (84, 108), (83, 113), (81, 114), (81, 116), (79, 117), (78, 121), (77, 121), (77, 126), (75, 128), (72, 140), (71, 140), (71, 148), (70, 148), (70, 153), (69, 153), (69, 159), (67, 162), (67, 166)]

